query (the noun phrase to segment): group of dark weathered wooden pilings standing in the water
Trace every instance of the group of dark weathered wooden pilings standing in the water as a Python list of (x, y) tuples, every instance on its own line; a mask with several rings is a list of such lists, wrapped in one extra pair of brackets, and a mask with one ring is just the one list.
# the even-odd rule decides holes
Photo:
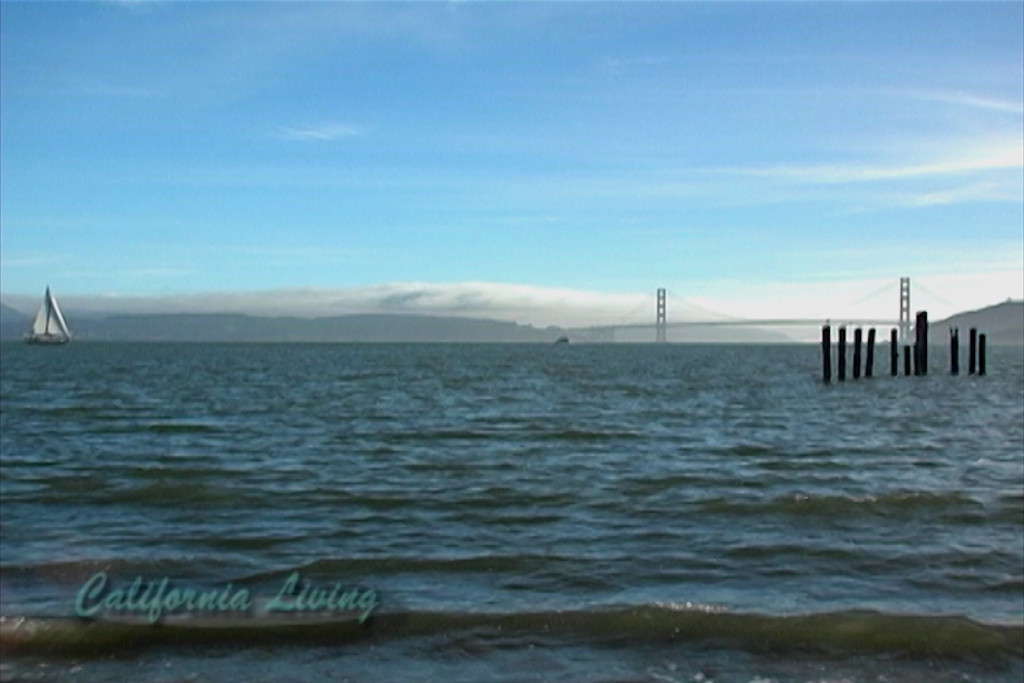
[[(863, 331), (857, 328), (853, 331), (853, 379), (860, 379), (861, 350), (863, 346)], [(864, 377), (871, 377), (874, 371), (874, 328), (867, 331), (866, 360)], [(889, 335), (889, 374), (899, 375), (899, 342), (896, 329)], [(971, 328), (970, 350), (968, 354), (968, 372), (971, 375), (985, 374), (985, 335), (979, 335), (977, 328)], [(846, 328), (839, 329), (839, 348), (837, 354), (837, 379), (846, 380)], [(959, 329), (949, 330), (949, 372), (959, 374)], [(913, 346), (903, 345), (903, 374), (928, 374), (928, 312), (921, 311), (914, 324)], [(821, 375), (824, 381), (831, 382), (831, 326), (821, 328)]]

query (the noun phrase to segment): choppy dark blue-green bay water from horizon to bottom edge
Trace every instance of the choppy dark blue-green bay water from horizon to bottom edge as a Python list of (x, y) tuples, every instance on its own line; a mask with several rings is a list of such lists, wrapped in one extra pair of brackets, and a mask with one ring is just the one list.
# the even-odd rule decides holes
[(1024, 356), (944, 350), (4, 344), (0, 678), (1020, 681)]

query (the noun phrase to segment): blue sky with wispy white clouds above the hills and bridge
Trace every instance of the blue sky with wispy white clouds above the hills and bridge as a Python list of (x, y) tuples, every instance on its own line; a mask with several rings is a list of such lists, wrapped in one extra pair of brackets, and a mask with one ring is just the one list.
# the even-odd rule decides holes
[(904, 275), (1024, 298), (1020, 2), (0, 3), (4, 303), (894, 318)]

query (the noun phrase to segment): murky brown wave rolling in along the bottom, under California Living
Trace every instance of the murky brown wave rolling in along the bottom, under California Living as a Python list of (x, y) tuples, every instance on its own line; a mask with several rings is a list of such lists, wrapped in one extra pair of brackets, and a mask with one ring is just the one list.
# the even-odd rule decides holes
[(480, 646), (496, 636), (505, 644), (558, 640), (610, 647), (644, 643), (702, 644), (784, 654), (897, 655), (967, 660), (1024, 659), (1024, 624), (982, 624), (959, 615), (912, 615), (837, 611), (766, 615), (703, 607), (642, 605), (566, 611), (511, 613), (396, 611), (354, 617), (191, 617), (174, 615), (158, 625), (144, 618), (77, 620), (0, 617), (4, 656), (131, 656), (147, 647), (292, 643), (314, 645), (455, 635)]

